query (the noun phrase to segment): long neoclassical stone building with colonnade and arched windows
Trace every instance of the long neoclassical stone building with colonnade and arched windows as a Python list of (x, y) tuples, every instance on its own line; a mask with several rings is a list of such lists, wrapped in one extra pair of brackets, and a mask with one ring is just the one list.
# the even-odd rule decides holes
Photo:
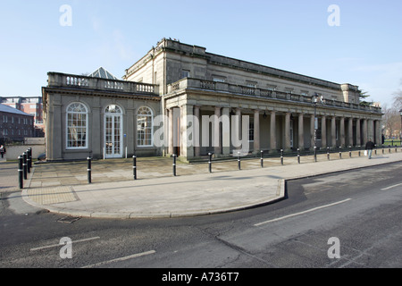
[[(232, 156), (381, 144), (381, 108), (360, 90), (163, 38), (123, 80), (49, 72), (50, 160)], [(236, 136), (233, 136), (236, 133)], [(162, 142), (162, 143), (161, 143)], [(235, 154), (236, 155), (236, 154)]]

